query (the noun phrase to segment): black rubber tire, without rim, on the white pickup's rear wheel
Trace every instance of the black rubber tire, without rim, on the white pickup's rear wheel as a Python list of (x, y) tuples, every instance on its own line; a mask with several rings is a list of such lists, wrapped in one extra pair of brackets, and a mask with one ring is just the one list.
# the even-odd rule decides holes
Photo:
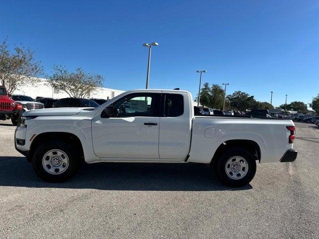
[[(246, 160), (248, 169), (246, 175), (240, 179), (233, 179), (231, 175), (226, 172), (226, 163), (232, 157), (239, 156)], [(229, 166), (229, 164), (228, 164)], [(220, 158), (213, 163), (214, 172), (217, 178), (226, 186), (229, 187), (243, 187), (250, 183), (256, 173), (256, 157), (244, 148), (234, 147), (227, 149)], [(231, 172), (232, 173), (232, 172)]]

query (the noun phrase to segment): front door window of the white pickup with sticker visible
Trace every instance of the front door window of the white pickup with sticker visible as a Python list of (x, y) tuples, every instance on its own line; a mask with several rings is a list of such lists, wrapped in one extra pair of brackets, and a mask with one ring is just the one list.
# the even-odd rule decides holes
[(113, 108), (118, 112), (117, 117), (159, 117), (160, 94), (131, 94), (114, 102)]

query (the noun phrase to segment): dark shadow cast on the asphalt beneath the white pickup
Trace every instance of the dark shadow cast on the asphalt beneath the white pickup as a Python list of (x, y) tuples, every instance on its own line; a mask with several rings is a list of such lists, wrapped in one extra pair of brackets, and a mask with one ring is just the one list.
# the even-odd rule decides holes
[(47, 183), (24, 157), (0, 156), (0, 186), (138, 191), (235, 191), (221, 184), (204, 164), (94, 163), (83, 164), (64, 183)]

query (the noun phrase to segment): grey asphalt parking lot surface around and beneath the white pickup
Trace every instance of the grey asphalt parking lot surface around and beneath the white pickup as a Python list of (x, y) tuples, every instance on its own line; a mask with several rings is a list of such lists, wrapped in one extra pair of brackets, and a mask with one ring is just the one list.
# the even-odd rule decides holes
[(318, 238), (319, 127), (296, 126), (295, 162), (231, 189), (197, 164), (86, 164), (46, 183), (0, 121), (0, 238)]

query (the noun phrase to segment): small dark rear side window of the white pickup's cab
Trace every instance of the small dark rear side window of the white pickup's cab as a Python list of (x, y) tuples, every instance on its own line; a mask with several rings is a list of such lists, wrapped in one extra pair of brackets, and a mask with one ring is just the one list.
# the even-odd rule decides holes
[(184, 99), (179, 94), (166, 94), (164, 117), (178, 117), (184, 113)]

